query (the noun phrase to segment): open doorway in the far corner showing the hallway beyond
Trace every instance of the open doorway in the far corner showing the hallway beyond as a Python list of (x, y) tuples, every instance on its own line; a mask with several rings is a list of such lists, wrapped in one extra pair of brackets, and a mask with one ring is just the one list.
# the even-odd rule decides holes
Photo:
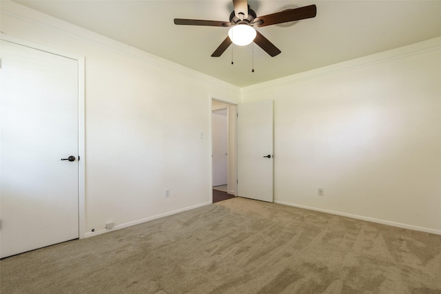
[(213, 202), (236, 196), (236, 105), (212, 99)]

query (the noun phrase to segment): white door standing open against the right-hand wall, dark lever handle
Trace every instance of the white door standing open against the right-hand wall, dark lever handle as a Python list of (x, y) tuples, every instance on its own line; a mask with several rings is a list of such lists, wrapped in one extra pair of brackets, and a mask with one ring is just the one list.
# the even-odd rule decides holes
[(273, 101), (238, 105), (238, 196), (273, 202)]

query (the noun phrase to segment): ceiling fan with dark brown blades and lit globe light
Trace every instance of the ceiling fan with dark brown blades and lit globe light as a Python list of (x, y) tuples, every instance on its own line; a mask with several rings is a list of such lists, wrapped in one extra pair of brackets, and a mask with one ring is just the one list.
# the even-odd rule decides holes
[[(271, 43), (265, 36), (256, 31), (253, 27), (258, 28), (266, 25), (276, 25), (278, 23), (287, 23), (289, 21), (298, 21), (300, 19), (310, 19), (316, 17), (317, 8), (315, 5), (303, 6), (289, 10), (257, 17), (256, 12), (249, 8), (247, 0), (233, 0), (234, 11), (229, 15), (228, 21), (205, 21), (200, 19), (174, 19), (176, 25), (207, 25), (212, 27), (231, 27), (227, 38), (213, 52), (212, 57), (219, 57), (227, 50), (229, 45), (247, 45), (256, 43), (260, 48), (265, 50), (271, 57), (280, 54), (280, 50)], [(247, 41), (243, 41), (240, 31), (248, 31), (251, 36)], [(236, 41), (237, 40), (237, 41)], [(240, 43), (243, 41), (242, 43)], [(237, 42), (237, 43), (236, 43)]]

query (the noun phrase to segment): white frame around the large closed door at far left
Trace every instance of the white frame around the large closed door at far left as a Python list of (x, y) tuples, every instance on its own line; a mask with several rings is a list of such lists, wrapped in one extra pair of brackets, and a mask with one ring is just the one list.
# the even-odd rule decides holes
[(4, 33), (0, 33), (0, 39), (78, 62), (78, 156), (80, 158), (78, 161), (78, 228), (79, 239), (83, 239), (85, 238), (85, 58)]

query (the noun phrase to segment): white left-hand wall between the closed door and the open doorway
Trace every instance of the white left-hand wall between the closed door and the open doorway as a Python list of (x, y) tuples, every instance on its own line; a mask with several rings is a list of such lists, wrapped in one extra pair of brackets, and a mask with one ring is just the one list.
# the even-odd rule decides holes
[(3, 33), (85, 56), (86, 232), (211, 202), (211, 97), (238, 103), (240, 89), (17, 3), (1, 10)]

